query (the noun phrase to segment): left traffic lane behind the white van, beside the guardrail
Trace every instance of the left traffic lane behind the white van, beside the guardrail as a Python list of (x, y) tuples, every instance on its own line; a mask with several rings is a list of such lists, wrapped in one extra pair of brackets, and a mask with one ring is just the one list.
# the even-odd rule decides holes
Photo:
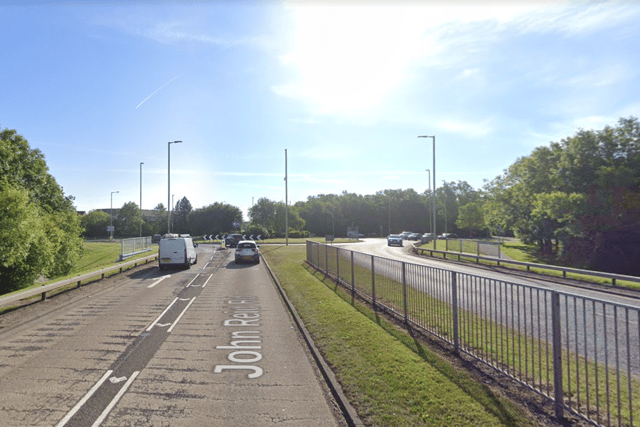
[(3, 425), (55, 425), (197, 274), (159, 273), (149, 268), (107, 279), (113, 285), (101, 292), (2, 334)]

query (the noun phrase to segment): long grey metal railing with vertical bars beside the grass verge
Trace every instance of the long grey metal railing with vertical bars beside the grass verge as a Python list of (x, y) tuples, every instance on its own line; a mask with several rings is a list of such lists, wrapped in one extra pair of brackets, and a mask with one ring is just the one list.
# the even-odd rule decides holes
[(640, 426), (640, 308), (307, 242), (307, 261), (596, 425)]

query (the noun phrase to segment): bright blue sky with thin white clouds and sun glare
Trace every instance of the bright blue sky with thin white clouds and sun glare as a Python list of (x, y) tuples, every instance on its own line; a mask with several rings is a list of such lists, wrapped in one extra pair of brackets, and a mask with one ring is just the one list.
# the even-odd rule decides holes
[(632, 1), (26, 0), (0, 1), (0, 22), (0, 128), (84, 211), (142, 189), (143, 209), (171, 195), (246, 220), (285, 201), (285, 170), (291, 204), (423, 193), (421, 135), (436, 186), (480, 189), (640, 114)]

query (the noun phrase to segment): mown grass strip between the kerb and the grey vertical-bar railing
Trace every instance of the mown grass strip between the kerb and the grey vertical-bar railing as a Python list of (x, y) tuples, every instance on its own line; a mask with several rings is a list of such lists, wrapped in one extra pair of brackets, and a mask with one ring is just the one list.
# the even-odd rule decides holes
[(323, 275), (305, 269), (304, 247), (265, 248), (263, 254), (366, 425), (535, 424), (405, 331), (366, 306), (352, 305)]

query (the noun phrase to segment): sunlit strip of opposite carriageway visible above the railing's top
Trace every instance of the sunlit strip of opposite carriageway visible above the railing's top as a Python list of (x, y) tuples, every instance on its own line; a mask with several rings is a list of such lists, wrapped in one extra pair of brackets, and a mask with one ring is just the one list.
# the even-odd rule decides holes
[(403, 247), (391, 247), (387, 246), (386, 240), (383, 239), (366, 239), (363, 243), (358, 244), (344, 244), (340, 247), (363, 252), (369, 255), (374, 255), (382, 258), (394, 259), (397, 261), (410, 262), (413, 264), (426, 265), (428, 267), (440, 268), (450, 271), (455, 271), (470, 276), (480, 276), (492, 280), (498, 280), (508, 283), (515, 283), (519, 285), (535, 286), (544, 289), (555, 290), (559, 292), (567, 292), (575, 295), (584, 296), (587, 298), (593, 298), (597, 300), (604, 300), (616, 304), (624, 304), (630, 307), (640, 307), (640, 299), (634, 297), (627, 297), (624, 295), (617, 295), (603, 291), (580, 288), (575, 286), (563, 285), (561, 283), (551, 282), (544, 279), (535, 279), (530, 277), (523, 277), (520, 275), (513, 275), (504, 273), (501, 271), (492, 271), (486, 268), (478, 268), (472, 265), (460, 265), (449, 261), (441, 261), (435, 258), (426, 256), (420, 256), (413, 253), (409, 242), (405, 242)]

